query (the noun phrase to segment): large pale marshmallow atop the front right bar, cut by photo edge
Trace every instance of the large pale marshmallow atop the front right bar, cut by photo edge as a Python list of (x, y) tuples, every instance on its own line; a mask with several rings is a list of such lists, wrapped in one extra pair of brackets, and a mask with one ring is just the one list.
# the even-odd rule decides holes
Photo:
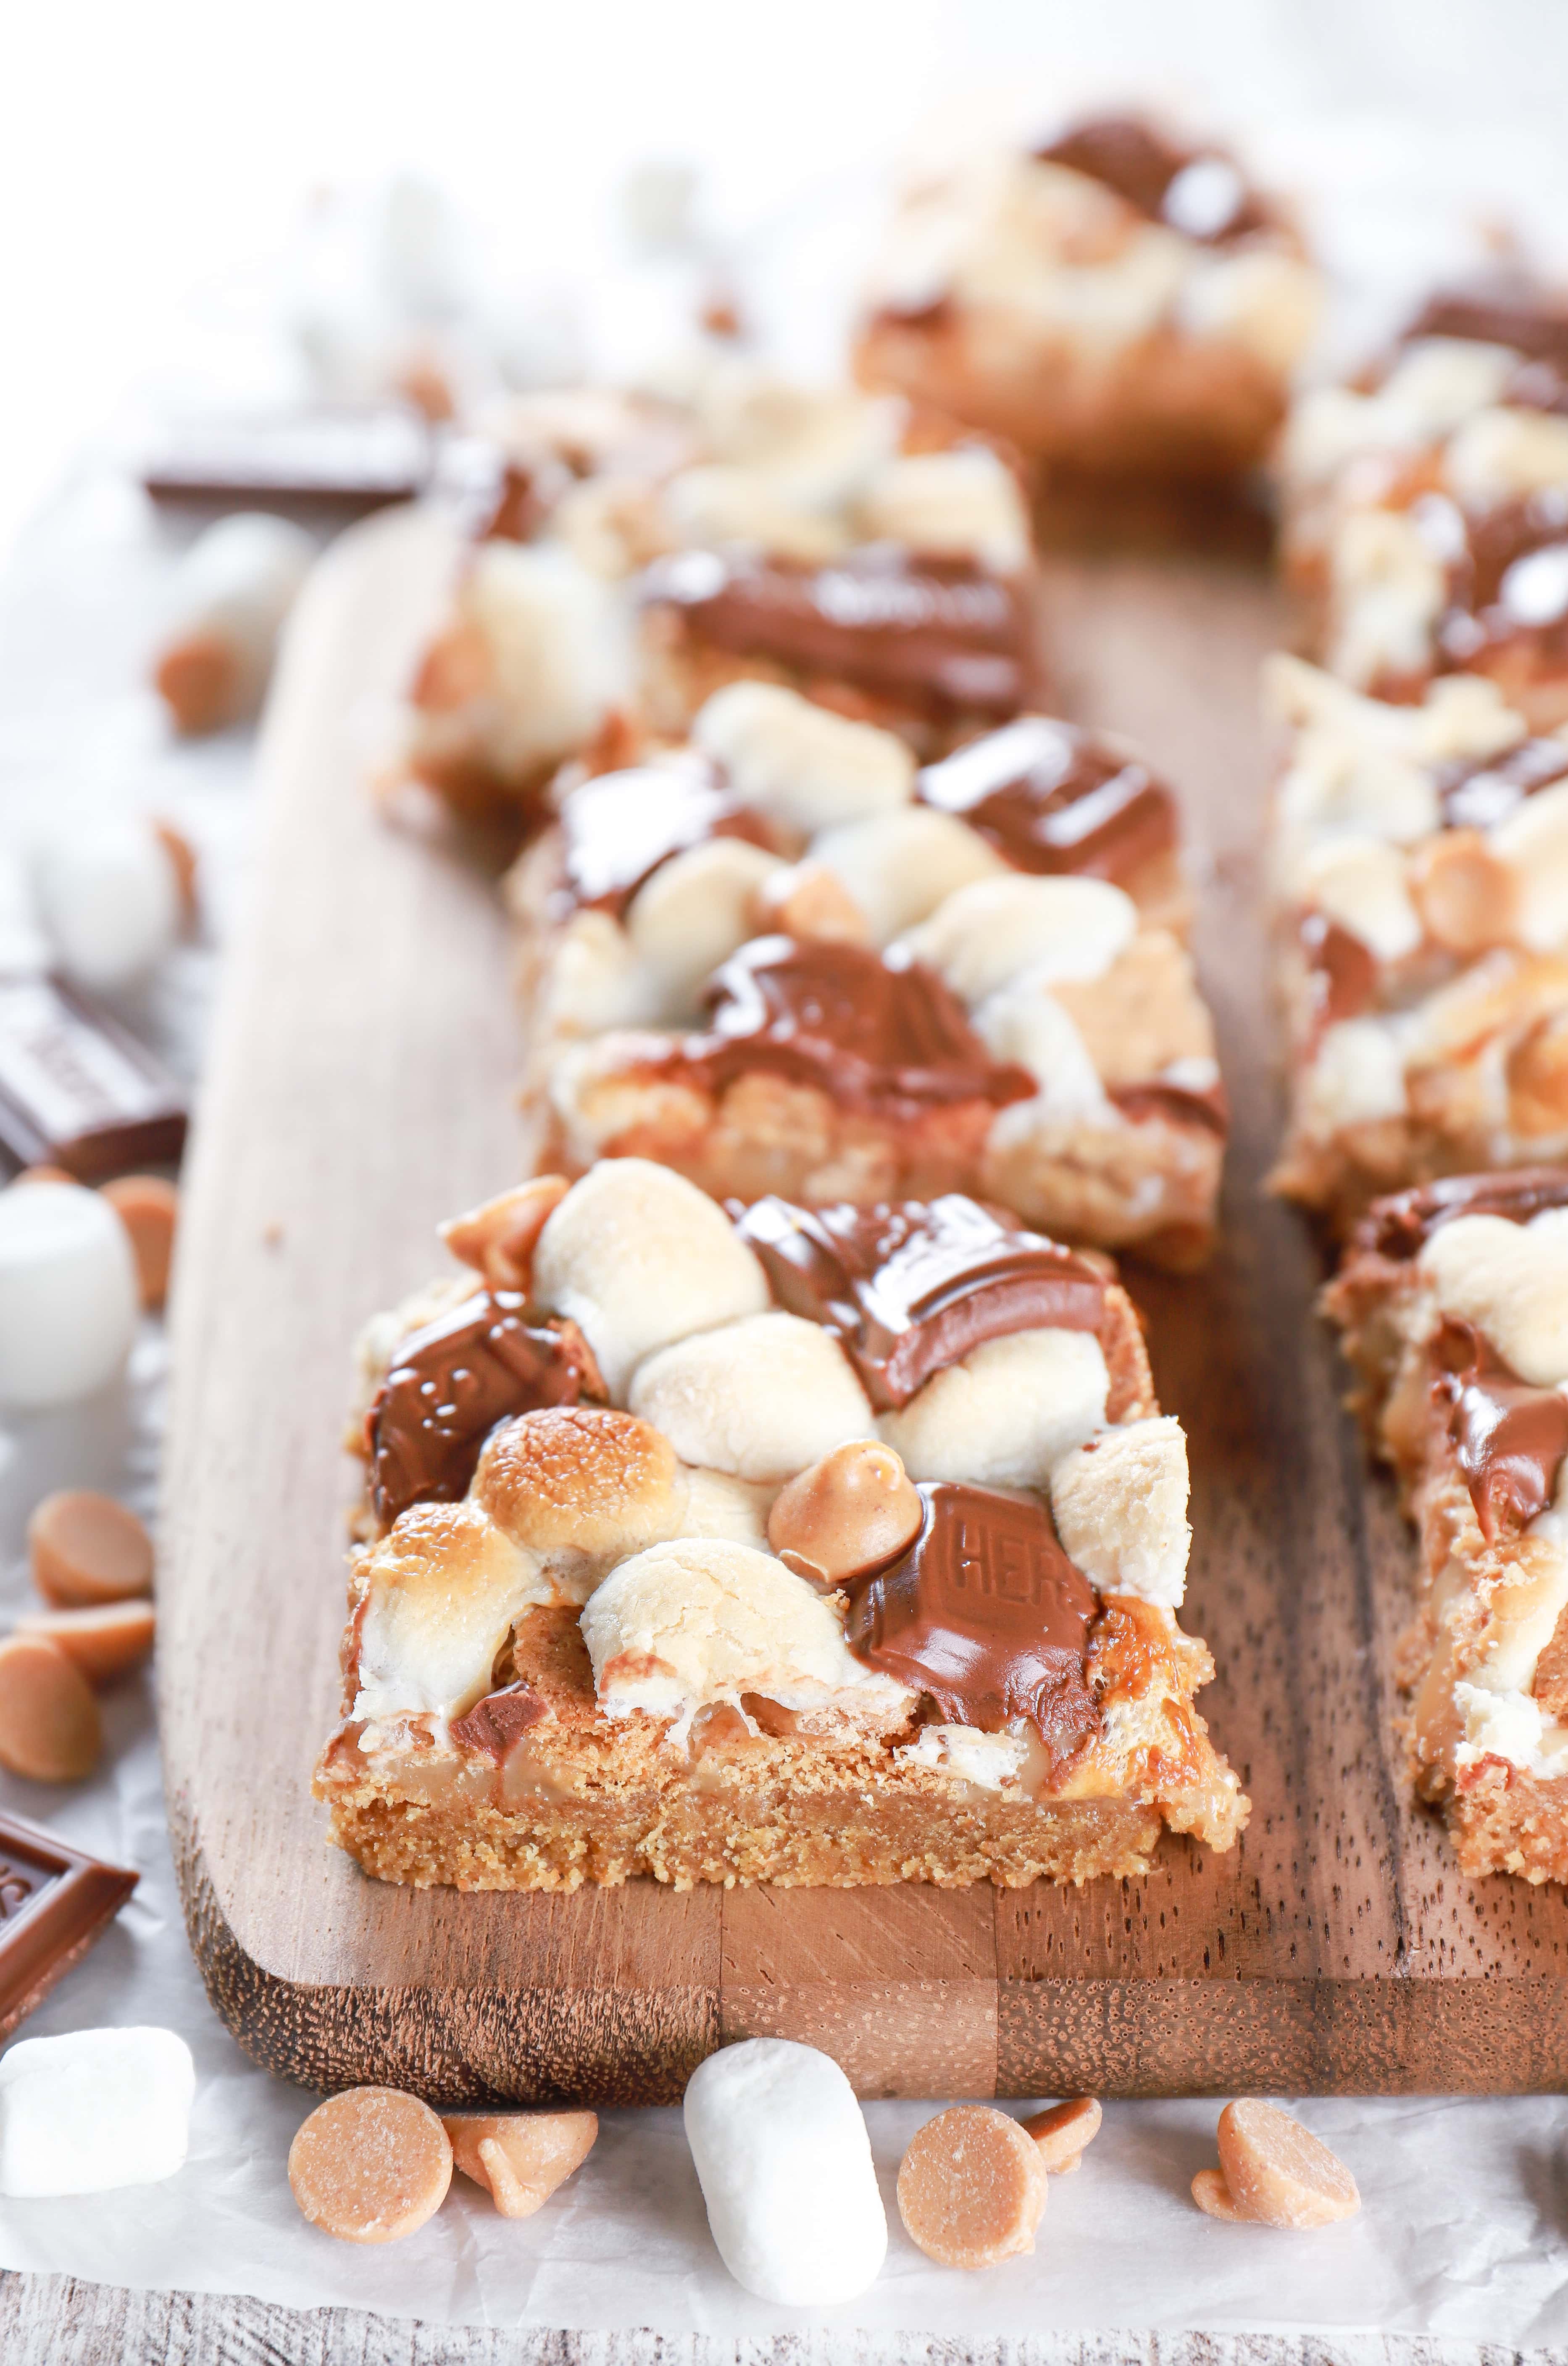
[(1568, 1379), (1568, 1209), (1530, 1223), (1454, 1216), (1419, 1256), (1445, 1315), (1473, 1323), (1537, 1389)]

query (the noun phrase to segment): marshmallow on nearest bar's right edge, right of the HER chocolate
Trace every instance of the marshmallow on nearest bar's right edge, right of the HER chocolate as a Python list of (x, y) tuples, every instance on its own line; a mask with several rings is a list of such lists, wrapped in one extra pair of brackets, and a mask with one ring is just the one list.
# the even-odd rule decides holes
[(1180, 1609), (1187, 1590), (1187, 1439), (1171, 1415), (1102, 1429), (1062, 1455), (1050, 1510), (1071, 1562), (1102, 1595)]

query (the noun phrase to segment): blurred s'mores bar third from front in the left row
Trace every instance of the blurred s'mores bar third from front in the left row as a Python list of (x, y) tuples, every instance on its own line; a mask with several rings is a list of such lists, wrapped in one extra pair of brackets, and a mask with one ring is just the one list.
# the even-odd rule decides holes
[(896, 400), (736, 364), (587, 476), (513, 466), (414, 681), (409, 769), (466, 814), (537, 826), (565, 757), (627, 717), (683, 733), (740, 677), (920, 752), (1029, 705), (1031, 539), (998, 454), (932, 450)]

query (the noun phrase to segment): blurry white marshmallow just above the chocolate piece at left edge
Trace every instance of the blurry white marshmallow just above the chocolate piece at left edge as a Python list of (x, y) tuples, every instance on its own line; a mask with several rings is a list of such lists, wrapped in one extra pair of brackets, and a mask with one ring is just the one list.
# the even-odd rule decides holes
[(147, 821), (102, 821), (47, 838), (33, 864), (38, 916), (66, 977), (118, 994), (180, 935), (180, 880)]

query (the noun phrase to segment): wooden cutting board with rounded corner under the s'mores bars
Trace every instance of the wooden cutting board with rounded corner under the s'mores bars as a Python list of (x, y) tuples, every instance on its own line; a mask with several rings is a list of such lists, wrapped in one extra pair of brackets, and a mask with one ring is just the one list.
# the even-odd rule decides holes
[(1225, 556), (1060, 558), (1064, 707), (1183, 788), (1197, 953), (1235, 1100), (1225, 1249), (1130, 1275), (1187, 1424), (1187, 1625), (1253, 1798), (1227, 1857), (1166, 1841), (1083, 1890), (634, 1883), (402, 1890), (326, 1843), (348, 1351), (435, 1271), (440, 1216), (518, 1174), (492, 887), (369, 793), (449, 549), (416, 513), (324, 558), (267, 717), (263, 842), (189, 1162), (166, 1467), (161, 1704), (192, 1945), (246, 2049), (305, 2087), (674, 2101), (721, 2039), (823, 2044), (863, 2094), (1540, 2089), (1568, 2080), (1568, 1902), (1464, 1881), (1393, 1739), (1410, 1547), (1339, 1413), (1317, 1249), (1258, 1181), (1277, 1133), (1258, 909), (1258, 658)]

